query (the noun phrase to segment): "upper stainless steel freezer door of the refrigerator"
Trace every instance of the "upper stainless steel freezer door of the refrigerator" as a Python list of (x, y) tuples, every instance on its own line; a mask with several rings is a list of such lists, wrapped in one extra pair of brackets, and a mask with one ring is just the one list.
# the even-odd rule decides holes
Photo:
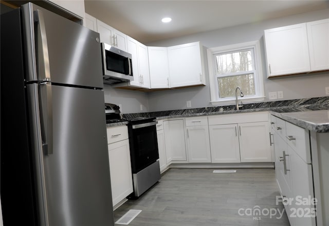
[(22, 8), (27, 81), (46, 75), (51, 82), (103, 88), (99, 33), (31, 3)]

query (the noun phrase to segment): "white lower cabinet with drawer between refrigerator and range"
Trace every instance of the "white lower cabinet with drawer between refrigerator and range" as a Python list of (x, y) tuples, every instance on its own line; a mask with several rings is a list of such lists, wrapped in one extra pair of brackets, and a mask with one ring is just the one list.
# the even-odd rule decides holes
[(128, 131), (126, 126), (107, 128), (113, 206), (120, 203), (133, 192), (130, 148), (127, 137)]

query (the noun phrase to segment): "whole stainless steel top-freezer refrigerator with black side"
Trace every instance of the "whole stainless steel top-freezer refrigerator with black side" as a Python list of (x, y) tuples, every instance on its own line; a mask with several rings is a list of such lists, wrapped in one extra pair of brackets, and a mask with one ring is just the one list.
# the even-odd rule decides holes
[(0, 84), (4, 225), (114, 225), (99, 33), (2, 14)]

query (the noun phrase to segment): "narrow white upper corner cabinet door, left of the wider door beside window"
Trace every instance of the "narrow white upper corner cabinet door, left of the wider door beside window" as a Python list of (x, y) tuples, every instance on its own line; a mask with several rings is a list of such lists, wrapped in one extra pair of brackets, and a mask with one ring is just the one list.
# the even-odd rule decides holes
[(169, 88), (169, 65), (167, 47), (149, 46), (151, 89)]

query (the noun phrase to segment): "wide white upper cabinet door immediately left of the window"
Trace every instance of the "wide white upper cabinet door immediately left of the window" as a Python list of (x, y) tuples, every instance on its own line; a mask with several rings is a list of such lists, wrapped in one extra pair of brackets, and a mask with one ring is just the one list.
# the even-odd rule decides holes
[(170, 87), (204, 84), (199, 42), (168, 47)]

